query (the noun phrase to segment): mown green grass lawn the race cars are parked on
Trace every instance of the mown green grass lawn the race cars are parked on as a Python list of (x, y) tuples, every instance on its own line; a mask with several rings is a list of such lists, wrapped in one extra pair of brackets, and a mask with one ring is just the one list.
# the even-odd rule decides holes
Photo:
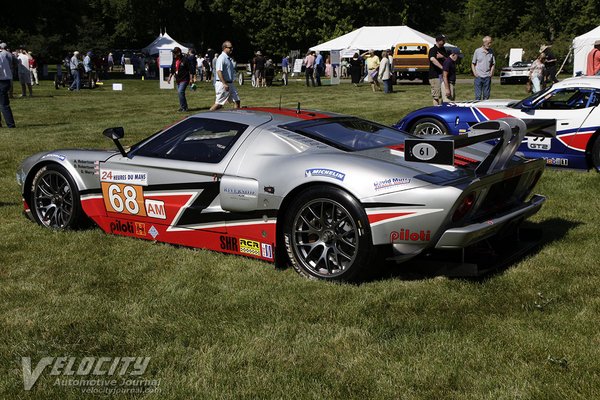
[[(123, 83), (122, 92), (112, 91)], [(243, 105), (321, 109), (384, 123), (431, 104), (429, 86), (239, 88)], [(20, 88), (15, 88), (16, 93)], [(521, 98), (523, 86), (493, 85)], [(472, 98), (459, 84), (458, 99)], [(188, 93), (207, 110), (212, 86)], [(47, 367), (30, 391), (22, 357), (150, 357), (153, 399), (600, 398), (600, 176), (547, 170), (532, 218), (541, 247), (485, 280), (308, 281), (291, 268), (204, 250), (50, 232), (21, 215), (15, 172), (41, 150), (111, 148), (179, 120), (175, 91), (113, 80), (79, 93), (43, 81), (0, 129), (0, 398), (76, 399)], [(399, 269), (402, 267), (399, 266)], [(76, 378), (82, 378), (77, 377)], [(93, 378), (85, 376), (83, 378)], [(98, 378), (98, 376), (96, 376)], [(100, 376), (100, 378), (105, 378)], [(121, 388), (126, 386), (120, 386)]]

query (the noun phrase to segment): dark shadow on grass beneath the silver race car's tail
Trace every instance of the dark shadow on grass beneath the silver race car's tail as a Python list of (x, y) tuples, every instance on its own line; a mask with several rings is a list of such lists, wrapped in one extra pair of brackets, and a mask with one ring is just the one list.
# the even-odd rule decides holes
[(398, 278), (421, 280), (446, 276), (484, 281), (501, 274), (526, 258), (565, 237), (581, 225), (579, 221), (551, 218), (539, 223), (526, 221), (519, 233), (513, 231), (501, 241), (495, 238), (461, 250), (434, 251), (406, 263), (386, 263), (374, 280)]

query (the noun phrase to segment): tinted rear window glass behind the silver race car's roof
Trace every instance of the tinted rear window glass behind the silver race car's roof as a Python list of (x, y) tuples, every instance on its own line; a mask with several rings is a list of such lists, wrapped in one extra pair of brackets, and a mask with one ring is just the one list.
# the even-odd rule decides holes
[(412, 135), (359, 118), (302, 121), (284, 128), (345, 151), (360, 151), (404, 143)]

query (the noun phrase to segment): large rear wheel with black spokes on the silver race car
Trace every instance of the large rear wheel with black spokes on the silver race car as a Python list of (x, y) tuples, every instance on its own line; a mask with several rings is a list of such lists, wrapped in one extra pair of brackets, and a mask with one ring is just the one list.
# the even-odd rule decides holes
[(375, 253), (368, 218), (350, 194), (330, 186), (304, 190), (284, 218), (284, 241), (294, 269), (329, 281), (364, 278)]

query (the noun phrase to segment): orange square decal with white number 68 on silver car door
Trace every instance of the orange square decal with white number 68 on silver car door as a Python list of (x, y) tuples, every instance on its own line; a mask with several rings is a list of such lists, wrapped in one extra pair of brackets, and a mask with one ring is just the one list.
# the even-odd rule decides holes
[(102, 197), (108, 212), (146, 216), (144, 191), (139, 185), (102, 182)]

